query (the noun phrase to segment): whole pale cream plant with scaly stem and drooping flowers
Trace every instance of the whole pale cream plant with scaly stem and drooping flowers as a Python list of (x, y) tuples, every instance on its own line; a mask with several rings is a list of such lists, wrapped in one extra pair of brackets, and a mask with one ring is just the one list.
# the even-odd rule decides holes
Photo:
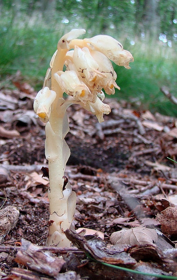
[[(70, 246), (65, 230), (71, 227), (76, 207), (76, 194), (70, 182), (64, 185), (65, 166), (70, 156), (64, 139), (69, 131), (66, 110), (71, 104), (79, 104), (96, 115), (100, 123), (104, 121), (103, 114), (109, 114), (111, 110), (102, 102), (102, 89), (107, 94), (114, 94), (114, 87), (120, 89), (110, 60), (127, 69), (133, 61), (130, 52), (123, 50), (112, 37), (99, 35), (77, 39), (84, 33), (84, 29), (73, 29), (59, 40), (43, 89), (34, 101), (36, 114), (46, 123), (45, 155), (49, 161), (50, 182), (47, 245), (60, 247)], [(63, 98), (64, 92), (71, 96), (68, 100)]]

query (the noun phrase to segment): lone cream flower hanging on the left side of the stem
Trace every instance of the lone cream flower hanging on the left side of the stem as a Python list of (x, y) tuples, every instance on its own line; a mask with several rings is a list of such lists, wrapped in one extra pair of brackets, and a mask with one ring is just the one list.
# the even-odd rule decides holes
[(47, 86), (40, 90), (34, 101), (34, 111), (44, 123), (49, 121), (51, 105), (56, 98), (56, 92)]

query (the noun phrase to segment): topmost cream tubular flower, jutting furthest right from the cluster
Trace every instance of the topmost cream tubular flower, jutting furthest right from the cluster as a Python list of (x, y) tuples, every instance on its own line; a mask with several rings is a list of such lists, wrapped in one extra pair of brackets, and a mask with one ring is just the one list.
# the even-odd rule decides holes
[[(84, 41), (92, 50), (102, 52), (117, 65), (130, 69), (129, 62), (134, 61), (132, 55), (124, 50), (122, 45), (114, 38), (107, 35), (98, 35), (90, 39), (84, 39)], [(105, 42), (109, 42), (109, 44), (105, 44)]]

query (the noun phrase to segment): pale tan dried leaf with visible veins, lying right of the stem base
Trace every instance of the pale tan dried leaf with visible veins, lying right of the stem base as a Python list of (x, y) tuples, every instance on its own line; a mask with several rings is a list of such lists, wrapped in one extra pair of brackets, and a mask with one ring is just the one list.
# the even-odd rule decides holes
[(120, 230), (113, 232), (110, 236), (110, 242), (112, 244), (152, 244), (153, 241), (157, 242), (157, 233), (155, 229), (145, 228), (143, 226), (137, 226), (130, 228), (129, 230)]

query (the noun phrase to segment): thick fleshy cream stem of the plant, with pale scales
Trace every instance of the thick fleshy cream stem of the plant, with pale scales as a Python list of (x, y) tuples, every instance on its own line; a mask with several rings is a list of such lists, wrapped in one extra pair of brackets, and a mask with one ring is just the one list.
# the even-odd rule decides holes
[[(57, 96), (51, 106), (51, 115), (46, 124), (45, 155), (49, 161), (50, 188), (48, 198), (50, 203), (49, 235), (47, 245), (60, 247), (70, 246), (64, 231), (70, 228), (75, 213), (76, 194), (72, 192), (70, 182), (63, 188), (65, 166), (70, 156), (70, 149), (64, 140), (69, 131), (66, 106), (63, 91), (54, 78), (54, 73), (63, 70), (67, 50), (58, 49), (53, 61), (51, 73), (51, 89)], [(52, 143), (52, 144), (51, 144)]]

